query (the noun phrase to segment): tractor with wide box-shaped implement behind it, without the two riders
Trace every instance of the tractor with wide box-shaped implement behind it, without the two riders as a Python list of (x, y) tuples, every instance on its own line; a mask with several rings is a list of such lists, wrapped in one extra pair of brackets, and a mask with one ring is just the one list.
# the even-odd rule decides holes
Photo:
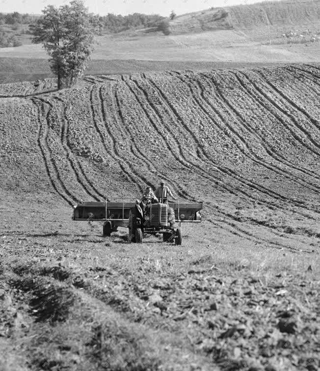
[(110, 236), (118, 227), (129, 229), (129, 241), (141, 243), (143, 235), (162, 234), (163, 241), (181, 245), (181, 224), (200, 223), (202, 202), (144, 205), (132, 198), (112, 198), (104, 202), (80, 202), (74, 207), (72, 219), (103, 222), (103, 235)]

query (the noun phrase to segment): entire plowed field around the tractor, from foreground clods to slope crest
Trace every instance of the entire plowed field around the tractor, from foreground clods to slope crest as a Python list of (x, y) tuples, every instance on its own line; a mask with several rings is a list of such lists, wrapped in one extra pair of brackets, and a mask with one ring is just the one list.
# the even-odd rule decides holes
[[(316, 64), (0, 85), (8, 370), (317, 370), (319, 93)], [(182, 247), (70, 221), (160, 179), (204, 202)]]

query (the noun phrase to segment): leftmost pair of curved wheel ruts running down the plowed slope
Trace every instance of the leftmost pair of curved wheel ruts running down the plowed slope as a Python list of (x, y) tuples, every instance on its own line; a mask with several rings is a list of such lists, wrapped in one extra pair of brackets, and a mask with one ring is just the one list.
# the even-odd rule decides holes
[[(37, 109), (37, 121), (39, 123), (39, 130), (38, 130), (38, 133), (37, 133), (37, 142), (38, 142), (38, 146), (39, 146), (40, 151), (41, 151), (42, 158), (43, 158), (44, 163), (45, 163), (45, 168), (46, 168), (47, 175), (50, 179), (50, 183), (51, 183), (53, 189), (56, 191), (56, 193), (58, 193), (61, 198), (63, 198), (70, 206), (73, 207), (73, 203), (70, 201), (70, 199), (68, 199), (68, 197), (65, 194), (63, 194), (60, 190), (58, 190), (58, 187), (55, 184), (54, 178), (56, 179), (56, 182), (59, 183), (60, 186), (62, 187), (62, 189), (65, 191), (64, 185), (62, 184), (62, 182), (60, 180), (58, 170), (57, 170), (57, 168), (56, 168), (56, 166), (53, 163), (53, 160), (51, 158), (51, 150), (49, 149), (49, 145), (48, 145), (48, 142), (47, 142), (47, 136), (48, 136), (48, 131), (49, 131), (48, 125), (46, 124), (45, 128), (44, 128), (42, 123), (41, 123), (40, 108), (39, 108), (38, 104), (36, 103), (36, 98), (31, 98), (30, 100), (32, 101), (32, 103), (35, 105), (35, 107)], [(41, 104), (41, 109), (42, 109), (42, 115), (45, 115), (43, 103)], [(49, 155), (47, 155), (46, 153), (48, 153)], [(50, 171), (50, 167), (53, 167), (53, 173), (55, 173), (54, 177), (53, 177), (53, 175)], [(65, 193), (68, 196), (70, 196), (70, 194), (68, 192), (65, 192)], [(74, 200), (74, 198), (72, 196), (71, 196), (71, 198)]]

